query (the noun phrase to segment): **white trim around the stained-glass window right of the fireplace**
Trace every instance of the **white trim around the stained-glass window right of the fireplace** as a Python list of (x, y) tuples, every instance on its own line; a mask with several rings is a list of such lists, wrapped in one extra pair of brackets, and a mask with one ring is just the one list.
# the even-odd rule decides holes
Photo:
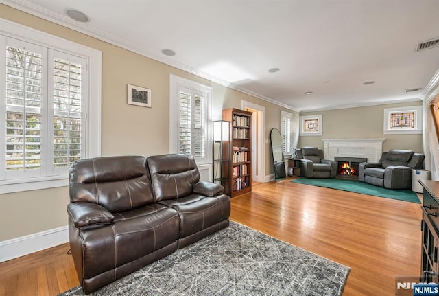
[[(401, 113), (414, 111), (414, 128), (390, 128), (390, 115), (392, 113)], [(403, 135), (403, 134), (422, 134), (423, 133), (423, 106), (407, 106), (384, 109), (383, 134)]]

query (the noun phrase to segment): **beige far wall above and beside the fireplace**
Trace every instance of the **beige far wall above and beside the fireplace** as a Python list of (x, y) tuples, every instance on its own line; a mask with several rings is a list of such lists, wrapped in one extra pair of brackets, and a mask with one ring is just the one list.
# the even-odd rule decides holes
[(384, 135), (383, 133), (385, 108), (420, 106), (422, 104), (422, 101), (417, 101), (300, 113), (301, 116), (322, 114), (322, 136), (300, 137), (299, 145), (323, 148), (322, 139), (385, 138), (383, 151), (408, 149), (423, 152), (423, 135), (421, 134)]

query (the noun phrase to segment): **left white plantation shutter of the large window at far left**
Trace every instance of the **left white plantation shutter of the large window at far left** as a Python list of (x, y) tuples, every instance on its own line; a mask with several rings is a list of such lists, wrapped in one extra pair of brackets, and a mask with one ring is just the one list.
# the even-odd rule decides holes
[(39, 177), (45, 174), (45, 52), (42, 47), (13, 38), (7, 39), (5, 51), (3, 176)]

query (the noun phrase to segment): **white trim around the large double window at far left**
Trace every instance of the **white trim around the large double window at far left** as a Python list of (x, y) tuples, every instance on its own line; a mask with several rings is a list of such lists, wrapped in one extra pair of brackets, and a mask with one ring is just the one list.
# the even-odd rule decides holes
[[(86, 110), (88, 111), (88, 114), (85, 114), (87, 130), (85, 157), (100, 157), (102, 132), (102, 52), (5, 19), (0, 19), (0, 34), (29, 43), (50, 47), (59, 50), (60, 52), (66, 52), (86, 59), (88, 71)], [(0, 78), (3, 78), (3, 76)], [(0, 194), (68, 185), (68, 175), (5, 180), (0, 181)]]

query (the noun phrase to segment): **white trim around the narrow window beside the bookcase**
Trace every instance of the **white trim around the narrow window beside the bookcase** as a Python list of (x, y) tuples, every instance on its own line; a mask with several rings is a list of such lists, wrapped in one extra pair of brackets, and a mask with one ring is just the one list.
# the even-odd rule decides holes
[(169, 76), (169, 153), (178, 153), (178, 86), (195, 89), (208, 93), (207, 100), (207, 131), (206, 131), (206, 160), (199, 161), (197, 165), (212, 163), (212, 137), (211, 137), (211, 122), (212, 122), (212, 88), (204, 84), (193, 82), (185, 78), (175, 75)]

